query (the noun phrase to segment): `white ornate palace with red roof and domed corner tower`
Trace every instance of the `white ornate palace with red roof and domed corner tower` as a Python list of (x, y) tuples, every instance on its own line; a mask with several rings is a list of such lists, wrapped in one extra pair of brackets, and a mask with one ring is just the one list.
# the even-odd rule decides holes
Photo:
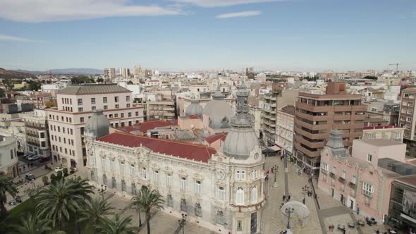
[(264, 155), (257, 138), (257, 144), (244, 142), (255, 133), (242, 119), (248, 119), (247, 101), (239, 103), (240, 112), (228, 135), (243, 137), (231, 140), (244, 144), (243, 151), (234, 151), (238, 147), (233, 144), (223, 153), (199, 144), (140, 135), (111, 133), (95, 138), (94, 133), (86, 133), (90, 180), (125, 197), (135, 195), (142, 185), (156, 189), (164, 196), (166, 213), (188, 214), (188, 221), (217, 233), (260, 233)]

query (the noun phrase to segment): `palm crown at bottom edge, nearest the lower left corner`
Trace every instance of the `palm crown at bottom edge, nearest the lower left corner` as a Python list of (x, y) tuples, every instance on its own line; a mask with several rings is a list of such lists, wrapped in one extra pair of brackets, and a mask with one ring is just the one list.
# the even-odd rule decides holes
[(20, 219), (20, 223), (14, 226), (14, 232), (16, 234), (43, 234), (51, 230), (51, 221), (46, 219), (39, 219), (33, 214)]

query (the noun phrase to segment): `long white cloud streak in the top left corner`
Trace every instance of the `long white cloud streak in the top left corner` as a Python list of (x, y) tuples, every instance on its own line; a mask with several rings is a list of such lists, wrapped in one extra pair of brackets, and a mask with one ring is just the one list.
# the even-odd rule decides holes
[(176, 6), (142, 6), (129, 3), (129, 0), (1, 0), (0, 18), (38, 23), (111, 16), (164, 16), (182, 13)]

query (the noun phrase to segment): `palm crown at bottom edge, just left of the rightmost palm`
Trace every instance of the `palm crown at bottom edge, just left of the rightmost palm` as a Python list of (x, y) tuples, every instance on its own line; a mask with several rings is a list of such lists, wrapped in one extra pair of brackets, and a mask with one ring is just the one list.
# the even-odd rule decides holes
[(128, 227), (131, 223), (131, 218), (121, 218), (118, 214), (109, 219), (104, 217), (98, 225), (100, 234), (134, 234), (136, 228)]

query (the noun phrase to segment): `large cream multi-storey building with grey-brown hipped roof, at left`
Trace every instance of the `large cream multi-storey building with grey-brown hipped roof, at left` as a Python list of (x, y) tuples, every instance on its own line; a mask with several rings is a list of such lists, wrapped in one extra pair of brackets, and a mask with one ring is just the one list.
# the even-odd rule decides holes
[(115, 128), (142, 122), (143, 106), (133, 105), (131, 93), (116, 84), (100, 84), (71, 85), (56, 94), (58, 106), (47, 110), (54, 161), (63, 166), (85, 166), (82, 136), (94, 110), (103, 110)]

